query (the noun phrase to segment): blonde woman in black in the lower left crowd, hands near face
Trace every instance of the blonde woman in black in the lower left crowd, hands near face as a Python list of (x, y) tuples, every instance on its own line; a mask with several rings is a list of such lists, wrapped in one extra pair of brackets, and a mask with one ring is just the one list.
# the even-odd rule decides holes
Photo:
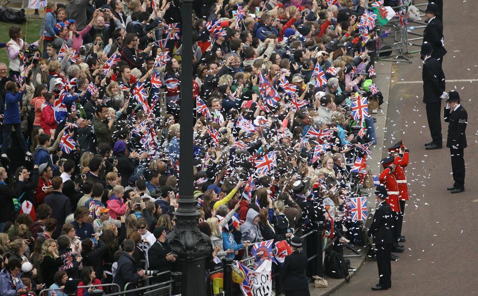
[(41, 275), (46, 287), (55, 283), (54, 276), (60, 266), (63, 266), (63, 259), (58, 255), (58, 244), (54, 239), (47, 239), (41, 246), (40, 262)]

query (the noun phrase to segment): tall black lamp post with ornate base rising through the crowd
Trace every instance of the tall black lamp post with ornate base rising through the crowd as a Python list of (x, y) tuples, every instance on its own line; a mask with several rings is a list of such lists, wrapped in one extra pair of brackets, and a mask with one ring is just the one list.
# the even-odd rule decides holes
[(179, 113), (179, 204), (174, 230), (167, 236), (171, 250), (178, 257), (176, 270), (182, 272), (181, 295), (201, 296), (206, 294), (204, 279), (206, 258), (210, 255), (209, 237), (197, 228), (193, 197), (193, 117), (192, 98), (192, 1), (183, 0), (182, 5), (182, 56), (181, 56), (181, 110)]

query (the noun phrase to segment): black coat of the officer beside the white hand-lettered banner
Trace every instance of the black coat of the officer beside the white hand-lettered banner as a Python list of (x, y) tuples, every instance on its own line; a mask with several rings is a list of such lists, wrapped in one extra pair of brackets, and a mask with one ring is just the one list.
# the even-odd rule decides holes
[[(307, 256), (299, 251), (294, 251), (286, 256), (281, 270), (282, 289), (284, 291), (297, 291), (306, 289), (309, 291), (309, 282), (306, 276)], [(297, 296), (301, 293), (295, 294)], [(309, 294), (308, 294), (309, 295)]]

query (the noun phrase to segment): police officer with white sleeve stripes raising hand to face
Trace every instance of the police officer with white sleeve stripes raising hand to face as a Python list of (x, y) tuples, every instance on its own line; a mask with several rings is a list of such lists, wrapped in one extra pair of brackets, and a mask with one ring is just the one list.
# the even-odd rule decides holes
[(445, 107), (445, 121), (448, 125), (447, 147), (450, 148), (452, 156), (452, 171), (455, 184), (447, 188), (452, 193), (465, 191), (465, 159), (463, 153), (467, 148), (467, 129), (468, 113), (460, 104), (460, 95), (458, 92), (448, 93), (447, 106)]

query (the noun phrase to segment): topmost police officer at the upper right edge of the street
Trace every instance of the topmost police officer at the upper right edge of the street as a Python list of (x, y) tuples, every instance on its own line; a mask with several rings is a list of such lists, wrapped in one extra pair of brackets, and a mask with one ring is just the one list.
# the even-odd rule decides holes
[(440, 64), (443, 63), (443, 57), (447, 54), (445, 49), (445, 41), (443, 39), (443, 24), (437, 18), (438, 5), (435, 3), (428, 3), (425, 10), (425, 16), (428, 19), (428, 25), (423, 31), (423, 42), (428, 42), (432, 45), (432, 57), (437, 59)]

